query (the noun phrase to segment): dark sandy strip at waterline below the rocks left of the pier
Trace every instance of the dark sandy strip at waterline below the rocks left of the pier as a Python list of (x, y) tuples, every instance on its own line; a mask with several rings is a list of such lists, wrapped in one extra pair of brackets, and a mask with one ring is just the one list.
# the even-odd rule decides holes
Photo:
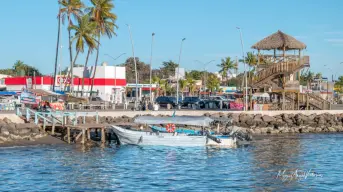
[(52, 137), (52, 136), (45, 136), (35, 141), (29, 140), (17, 140), (7, 143), (0, 143), (0, 147), (13, 147), (13, 146), (30, 146), (30, 145), (57, 145), (57, 144), (66, 144), (65, 142)]

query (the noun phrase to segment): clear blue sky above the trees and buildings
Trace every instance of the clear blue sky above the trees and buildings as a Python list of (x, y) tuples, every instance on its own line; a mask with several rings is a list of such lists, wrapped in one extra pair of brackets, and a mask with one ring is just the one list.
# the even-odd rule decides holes
[[(84, 2), (87, 2), (84, 0)], [(243, 31), (245, 51), (277, 30), (296, 37), (307, 45), (311, 70), (324, 75), (343, 75), (343, 1), (341, 0), (115, 0), (118, 15), (117, 37), (103, 38), (99, 61), (114, 64), (108, 56), (126, 53), (115, 64), (132, 55), (128, 28), (130, 24), (135, 54), (149, 63), (151, 33), (155, 32), (153, 67), (166, 60), (178, 61), (183, 46), (181, 66), (202, 69), (194, 62), (215, 60), (208, 69), (226, 56), (241, 57), (239, 32)], [(4, 1), (0, 12), (1, 68), (23, 60), (44, 73), (52, 73), (57, 35), (57, 0)], [(62, 32), (62, 66), (68, 65), (67, 30)], [(95, 55), (95, 54), (94, 54)], [(82, 64), (85, 55), (77, 63)], [(90, 63), (94, 64), (92, 56)], [(327, 65), (331, 68), (324, 67)], [(240, 67), (242, 69), (242, 67)]]

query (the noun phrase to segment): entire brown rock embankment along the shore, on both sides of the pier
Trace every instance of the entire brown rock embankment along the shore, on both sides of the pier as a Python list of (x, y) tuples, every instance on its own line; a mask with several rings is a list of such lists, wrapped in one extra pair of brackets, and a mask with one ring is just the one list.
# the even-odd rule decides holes
[[(246, 113), (205, 113), (204, 116), (214, 119), (220, 119), (219, 132), (227, 132), (230, 126), (225, 126), (225, 122), (232, 120), (232, 125), (239, 127), (242, 132), (253, 135), (276, 135), (276, 134), (296, 134), (296, 133), (326, 133), (326, 132), (343, 132), (343, 113), (342, 114), (281, 114), (268, 116), (261, 114)], [(163, 115), (159, 115), (163, 116)], [(86, 123), (93, 124), (96, 122), (95, 117), (86, 117)], [(99, 117), (99, 123), (127, 125), (138, 128), (134, 125), (134, 118), (128, 116)], [(82, 124), (83, 119), (80, 117), (78, 123)], [(227, 127), (227, 128), (225, 128)], [(211, 127), (216, 131), (216, 123)], [(4, 143), (15, 143), (17, 141), (36, 141), (46, 137), (48, 134), (41, 127), (34, 123), (13, 123), (10, 119), (0, 119), (0, 146)]]

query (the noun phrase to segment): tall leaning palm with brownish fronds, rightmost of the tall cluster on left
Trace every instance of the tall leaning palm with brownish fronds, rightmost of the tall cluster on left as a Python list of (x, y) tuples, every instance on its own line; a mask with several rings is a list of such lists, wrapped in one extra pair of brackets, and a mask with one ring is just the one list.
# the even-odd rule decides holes
[(101, 35), (106, 35), (107, 37), (112, 38), (112, 35), (116, 35), (114, 29), (118, 28), (115, 24), (117, 15), (111, 12), (114, 8), (112, 0), (91, 0), (91, 3), (93, 7), (90, 7), (87, 10), (89, 10), (89, 14), (92, 17), (92, 20), (97, 24), (96, 35), (98, 36), (98, 46), (95, 58), (95, 68), (92, 77), (90, 97), (92, 97), (94, 78), (96, 68), (98, 66), (100, 37)]

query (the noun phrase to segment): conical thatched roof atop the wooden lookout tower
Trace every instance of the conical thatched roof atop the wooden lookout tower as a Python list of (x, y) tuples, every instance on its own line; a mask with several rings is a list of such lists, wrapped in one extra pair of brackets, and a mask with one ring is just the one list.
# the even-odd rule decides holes
[(306, 45), (279, 30), (276, 33), (269, 35), (268, 37), (255, 43), (251, 48), (258, 50), (283, 50), (284, 48), (285, 50), (293, 50), (306, 49)]

